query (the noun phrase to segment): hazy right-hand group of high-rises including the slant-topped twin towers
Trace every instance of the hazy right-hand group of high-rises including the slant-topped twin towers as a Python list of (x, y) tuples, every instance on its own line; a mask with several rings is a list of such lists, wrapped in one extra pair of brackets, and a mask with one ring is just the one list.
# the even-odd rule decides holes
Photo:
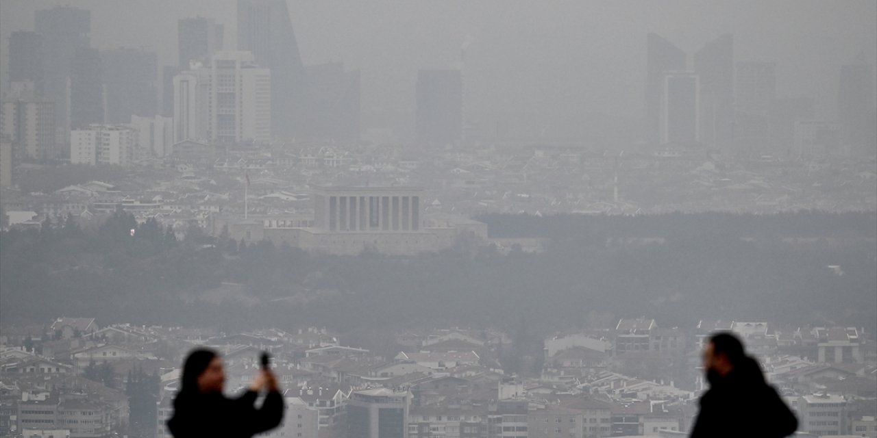
[(838, 117), (816, 117), (813, 99), (777, 94), (776, 64), (737, 61), (725, 34), (689, 60), (671, 41), (646, 43), (646, 138), (654, 145), (712, 145), (735, 154), (873, 155), (873, 66), (841, 67)]

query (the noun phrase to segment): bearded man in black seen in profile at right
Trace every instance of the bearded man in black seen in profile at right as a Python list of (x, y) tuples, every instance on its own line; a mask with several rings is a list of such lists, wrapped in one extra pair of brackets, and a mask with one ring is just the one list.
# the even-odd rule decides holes
[(767, 385), (759, 363), (745, 355), (737, 336), (719, 332), (709, 337), (703, 371), (709, 391), (701, 397), (691, 438), (780, 438), (795, 433), (795, 414)]

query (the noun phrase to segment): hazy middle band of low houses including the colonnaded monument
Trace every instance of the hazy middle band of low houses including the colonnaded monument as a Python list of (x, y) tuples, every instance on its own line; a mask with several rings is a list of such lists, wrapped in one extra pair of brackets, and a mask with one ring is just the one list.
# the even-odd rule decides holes
[[(75, 138), (89, 159), (124, 159), (126, 149), (116, 146), (135, 144), (137, 132), (97, 127)], [(169, 145), (151, 141), (156, 149)], [(873, 160), (734, 159), (672, 148), (606, 152), (566, 145), (480, 145), (425, 155), (399, 145), (318, 142), (272, 148), (184, 140), (172, 147), (162, 159), (126, 168), (121, 178), (47, 193), (18, 185), (6, 148), (0, 180), (9, 185), (0, 189), (0, 204), (10, 226), (67, 215), (83, 225), (99, 223), (120, 207), (139, 222), (155, 218), (180, 233), (191, 224), (214, 235), (227, 228), (235, 239), (267, 238), (329, 253), (393, 242), (400, 254), (440, 249), (469, 231), (486, 237), (484, 225), (471, 219), (483, 213), (877, 209)], [(22, 172), (51, 169), (31, 165)], [(338, 192), (334, 204), (329, 192)]]

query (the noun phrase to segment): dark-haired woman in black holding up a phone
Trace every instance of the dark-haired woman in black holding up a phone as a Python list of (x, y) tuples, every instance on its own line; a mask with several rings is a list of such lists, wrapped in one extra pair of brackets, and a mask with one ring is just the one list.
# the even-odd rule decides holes
[[(248, 438), (280, 424), (283, 397), (270, 370), (260, 370), (237, 399), (225, 398), (224, 384), (222, 358), (216, 352), (199, 349), (189, 354), (182, 367), (182, 386), (174, 399), (174, 416), (168, 420), (170, 433), (175, 438)], [(267, 390), (265, 402), (256, 409), (254, 403), (263, 389)]]

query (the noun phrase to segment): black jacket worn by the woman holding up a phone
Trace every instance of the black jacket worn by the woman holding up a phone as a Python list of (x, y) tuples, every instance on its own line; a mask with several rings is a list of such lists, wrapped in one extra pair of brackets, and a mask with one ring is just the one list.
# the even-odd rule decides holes
[(180, 392), (174, 399), (174, 416), (168, 420), (168, 430), (175, 438), (249, 438), (277, 427), (283, 420), (283, 396), (268, 392), (256, 409), (258, 395), (247, 391), (238, 399), (226, 399), (221, 393)]

